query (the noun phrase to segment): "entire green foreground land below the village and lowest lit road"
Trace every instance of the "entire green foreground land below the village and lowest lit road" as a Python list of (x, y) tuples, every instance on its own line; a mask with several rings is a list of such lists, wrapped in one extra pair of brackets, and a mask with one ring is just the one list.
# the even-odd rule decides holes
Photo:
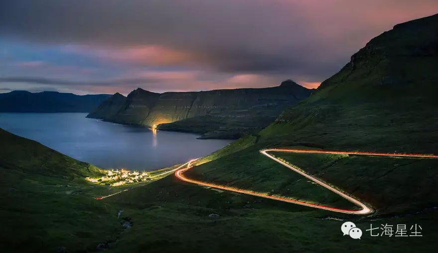
[[(425, 235), (438, 232), (434, 210), (396, 219), (359, 219), (207, 189), (174, 176), (96, 200), (108, 189), (88, 184), (84, 177), (100, 174), (100, 169), (3, 130), (0, 137), (2, 252), (343, 252), (339, 243), (356, 252), (427, 251), (434, 244), (430, 236), (399, 241), (363, 237), (358, 242), (342, 237), (339, 226), (342, 219), (362, 229), (369, 223), (418, 223)], [(247, 151), (254, 141), (246, 137), (212, 156)], [(260, 161), (262, 167), (272, 166), (269, 160)], [(282, 168), (273, 169), (281, 173)], [(300, 189), (301, 194), (309, 189)]]

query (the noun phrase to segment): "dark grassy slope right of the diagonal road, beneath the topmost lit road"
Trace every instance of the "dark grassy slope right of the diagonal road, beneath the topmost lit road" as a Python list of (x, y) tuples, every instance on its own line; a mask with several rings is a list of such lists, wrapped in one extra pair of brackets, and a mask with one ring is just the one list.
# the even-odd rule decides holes
[(378, 215), (413, 213), (438, 203), (437, 159), (274, 153), (369, 203)]

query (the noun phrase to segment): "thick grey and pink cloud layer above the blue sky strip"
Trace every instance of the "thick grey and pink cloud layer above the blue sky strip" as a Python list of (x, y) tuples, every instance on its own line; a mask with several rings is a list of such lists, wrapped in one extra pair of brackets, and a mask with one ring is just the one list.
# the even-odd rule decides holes
[(0, 36), (104, 48), (97, 57), (137, 66), (318, 82), (372, 37), (437, 9), (436, 0), (2, 0)]

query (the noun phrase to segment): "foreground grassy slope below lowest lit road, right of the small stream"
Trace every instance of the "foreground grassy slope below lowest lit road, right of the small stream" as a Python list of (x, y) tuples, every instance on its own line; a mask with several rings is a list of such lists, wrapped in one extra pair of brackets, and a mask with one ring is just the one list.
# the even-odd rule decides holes
[[(361, 219), (207, 189), (181, 183), (174, 176), (105, 202), (123, 207), (126, 210), (123, 215), (133, 222), (133, 227), (108, 251), (117, 253), (427, 251), (438, 232), (436, 211), (399, 218)], [(210, 218), (210, 214), (220, 216)], [(428, 236), (395, 240), (364, 235), (359, 242), (341, 236), (339, 228), (343, 221), (339, 219), (353, 221), (364, 231), (370, 224), (379, 227), (381, 223), (417, 223)]]

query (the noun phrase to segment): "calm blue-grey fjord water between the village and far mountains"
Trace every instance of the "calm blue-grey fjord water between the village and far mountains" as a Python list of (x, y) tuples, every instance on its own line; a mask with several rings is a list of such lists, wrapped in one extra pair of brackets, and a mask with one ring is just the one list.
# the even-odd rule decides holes
[(207, 155), (230, 142), (201, 140), (192, 133), (113, 124), (88, 119), (86, 115), (1, 113), (0, 127), (107, 169), (159, 169)]

